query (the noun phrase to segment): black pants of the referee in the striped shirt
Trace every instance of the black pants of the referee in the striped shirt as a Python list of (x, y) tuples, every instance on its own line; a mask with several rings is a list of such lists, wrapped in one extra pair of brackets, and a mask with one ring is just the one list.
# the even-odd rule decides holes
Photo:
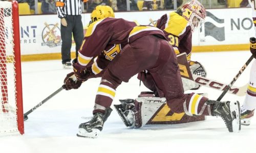
[(71, 46), (72, 46), (72, 33), (73, 38), (76, 44), (76, 57), (78, 55), (78, 49), (83, 40), (83, 26), (81, 15), (66, 15), (65, 19), (67, 20), (67, 27), (64, 27), (62, 24), (60, 26), (61, 34), (61, 59), (62, 64), (71, 61)]

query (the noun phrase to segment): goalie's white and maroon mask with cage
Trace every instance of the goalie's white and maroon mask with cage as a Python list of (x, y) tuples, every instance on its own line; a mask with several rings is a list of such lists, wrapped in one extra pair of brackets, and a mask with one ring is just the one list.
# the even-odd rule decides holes
[(182, 16), (189, 22), (192, 32), (201, 27), (206, 17), (204, 6), (197, 0), (185, 3), (182, 7)]

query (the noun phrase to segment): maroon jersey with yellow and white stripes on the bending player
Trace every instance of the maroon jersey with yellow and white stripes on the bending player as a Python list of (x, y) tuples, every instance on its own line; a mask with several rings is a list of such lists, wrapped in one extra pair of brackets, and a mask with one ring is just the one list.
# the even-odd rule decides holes
[(78, 51), (78, 63), (84, 68), (89, 67), (92, 59), (92, 72), (100, 73), (109, 61), (112, 61), (123, 46), (140, 37), (155, 35), (164, 38), (161, 30), (150, 26), (136, 26), (135, 22), (121, 18), (105, 18), (92, 23)]

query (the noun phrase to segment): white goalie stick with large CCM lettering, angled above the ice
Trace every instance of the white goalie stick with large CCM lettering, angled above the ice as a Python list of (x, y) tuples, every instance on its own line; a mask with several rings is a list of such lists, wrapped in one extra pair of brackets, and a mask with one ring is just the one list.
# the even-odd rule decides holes
[[(196, 84), (201, 85), (201, 86), (205, 86), (205, 87), (211, 88), (211, 89), (216, 89), (216, 90), (223, 91), (228, 87), (227, 84), (221, 83), (221, 82), (216, 81), (216, 80), (211, 80), (209, 78), (201, 77), (201, 76), (196, 75), (196, 74), (193, 74), (193, 79), (196, 82)], [(232, 88), (230, 88), (228, 90), (228, 93), (231, 93), (231, 94), (234, 94), (234, 95), (237, 95), (237, 96), (244, 96), (246, 94), (247, 87), (248, 87), (247, 84), (245, 84), (242, 87), (232, 86)]]

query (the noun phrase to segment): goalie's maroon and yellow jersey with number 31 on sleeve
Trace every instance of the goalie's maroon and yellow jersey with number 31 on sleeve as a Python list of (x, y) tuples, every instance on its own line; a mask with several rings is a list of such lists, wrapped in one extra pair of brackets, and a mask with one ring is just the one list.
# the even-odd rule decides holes
[(178, 49), (175, 50), (176, 54), (186, 53), (190, 61), (192, 32), (188, 21), (176, 12), (171, 12), (158, 19), (156, 27), (164, 32), (174, 49)]

